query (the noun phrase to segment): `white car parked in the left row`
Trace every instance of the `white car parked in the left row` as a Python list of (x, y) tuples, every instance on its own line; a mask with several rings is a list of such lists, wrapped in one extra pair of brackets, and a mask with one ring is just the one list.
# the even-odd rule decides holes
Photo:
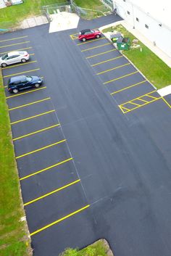
[(27, 62), (28, 59), (28, 51), (11, 51), (8, 54), (0, 57), (0, 66), (7, 67), (7, 65), (17, 62)]

